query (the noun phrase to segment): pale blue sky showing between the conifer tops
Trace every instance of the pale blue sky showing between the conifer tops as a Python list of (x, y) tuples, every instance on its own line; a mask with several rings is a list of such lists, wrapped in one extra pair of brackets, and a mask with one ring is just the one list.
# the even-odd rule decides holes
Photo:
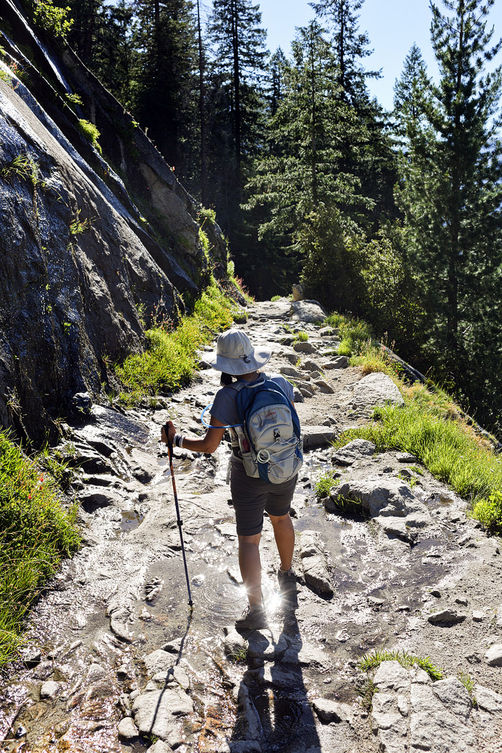
[[(279, 45), (288, 54), (296, 26), (305, 26), (314, 16), (307, 0), (255, 0), (260, 2), (263, 27), (268, 30), (268, 46)], [(440, 8), (443, 4), (437, 0)], [(502, 0), (491, 9), (488, 21), (495, 38), (502, 37)], [(431, 50), (431, 11), (428, 0), (366, 0), (360, 12), (360, 29), (370, 36), (373, 55), (366, 59), (371, 70), (382, 69), (383, 78), (370, 79), (371, 93), (386, 108), (393, 103), (393, 87), (403, 70), (404, 59), (413, 42), (418, 44), (429, 72), (437, 71)], [(502, 62), (502, 53), (497, 62)]]

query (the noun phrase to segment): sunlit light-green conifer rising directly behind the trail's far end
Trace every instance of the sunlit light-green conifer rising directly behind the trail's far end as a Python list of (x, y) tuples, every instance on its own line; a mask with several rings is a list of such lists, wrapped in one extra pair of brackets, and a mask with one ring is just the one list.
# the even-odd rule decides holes
[[(266, 256), (267, 270), (284, 267), (281, 255), (289, 255), (292, 275), (298, 275), (300, 262), (320, 272), (332, 259), (325, 278), (329, 282), (339, 273), (333, 238), (357, 228), (373, 203), (361, 195), (357, 176), (340, 169), (339, 144), (345, 139), (355, 142), (360, 123), (339, 96), (336, 63), (323, 32), (317, 21), (298, 29), (293, 62), (284, 67), (284, 93), (269, 123), (272, 146), (257, 163), (247, 209), (262, 213), (260, 258)], [(311, 242), (310, 230), (315, 227), (323, 238), (316, 236)]]

